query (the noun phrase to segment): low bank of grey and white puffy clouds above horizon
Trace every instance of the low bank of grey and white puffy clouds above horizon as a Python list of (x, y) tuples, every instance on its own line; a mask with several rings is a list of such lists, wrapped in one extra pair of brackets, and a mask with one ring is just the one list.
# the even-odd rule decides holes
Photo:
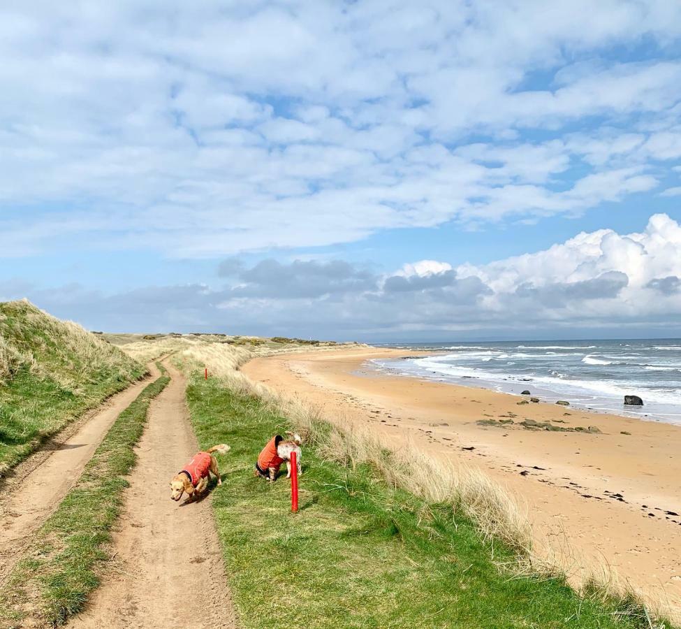
[[(515, 338), (681, 333), (681, 225), (653, 215), (639, 233), (579, 233), (483, 265), (423, 260), (388, 273), (346, 261), (228, 259), (221, 284), (106, 295), (0, 284), (94, 328), (230, 331), (324, 338)], [(85, 313), (85, 314), (83, 314)]]

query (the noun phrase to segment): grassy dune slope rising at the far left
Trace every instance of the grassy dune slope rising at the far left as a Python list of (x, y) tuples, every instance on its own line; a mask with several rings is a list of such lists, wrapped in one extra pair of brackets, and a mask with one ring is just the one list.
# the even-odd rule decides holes
[(0, 476), (144, 373), (76, 324), (27, 301), (0, 303)]

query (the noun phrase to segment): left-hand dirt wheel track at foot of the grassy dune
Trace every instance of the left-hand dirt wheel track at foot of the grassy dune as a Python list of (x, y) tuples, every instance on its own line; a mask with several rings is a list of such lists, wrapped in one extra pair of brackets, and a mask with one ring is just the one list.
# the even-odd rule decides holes
[(0, 491), (0, 583), (18, 559), (17, 548), (22, 548), (24, 540), (28, 540), (57, 509), (119, 413), (159, 376), (159, 370), (153, 364), (149, 365), (149, 370), (151, 377), (109, 398), (94, 413), (87, 414), (71, 437), (57, 442), (51, 452), (40, 451), (24, 461), (3, 483)]

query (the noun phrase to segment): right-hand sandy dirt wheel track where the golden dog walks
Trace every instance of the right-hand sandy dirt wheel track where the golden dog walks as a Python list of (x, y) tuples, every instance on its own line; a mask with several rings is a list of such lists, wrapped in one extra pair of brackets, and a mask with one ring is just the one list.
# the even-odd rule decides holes
[(170, 500), (170, 478), (198, 446), (187, 417), (184, 377), (164, 364), (172, 381), (149, 408), (114, 535), (115, 560), (70, 627), (237, 626), (210, 497), (189, 504)]

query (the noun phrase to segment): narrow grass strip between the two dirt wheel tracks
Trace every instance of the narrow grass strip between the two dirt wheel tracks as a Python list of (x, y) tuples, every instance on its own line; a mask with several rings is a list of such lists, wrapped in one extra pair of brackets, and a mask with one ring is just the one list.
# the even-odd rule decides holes
[(0, 591), (0, 626), (17, 626), (27, 618), (56, 626), (84, 607), (108, 560), (105, 545), (122, 507), (149, 403), (169, 381), (161, 375), (119, 414), (78, 483), (38, 531)]

